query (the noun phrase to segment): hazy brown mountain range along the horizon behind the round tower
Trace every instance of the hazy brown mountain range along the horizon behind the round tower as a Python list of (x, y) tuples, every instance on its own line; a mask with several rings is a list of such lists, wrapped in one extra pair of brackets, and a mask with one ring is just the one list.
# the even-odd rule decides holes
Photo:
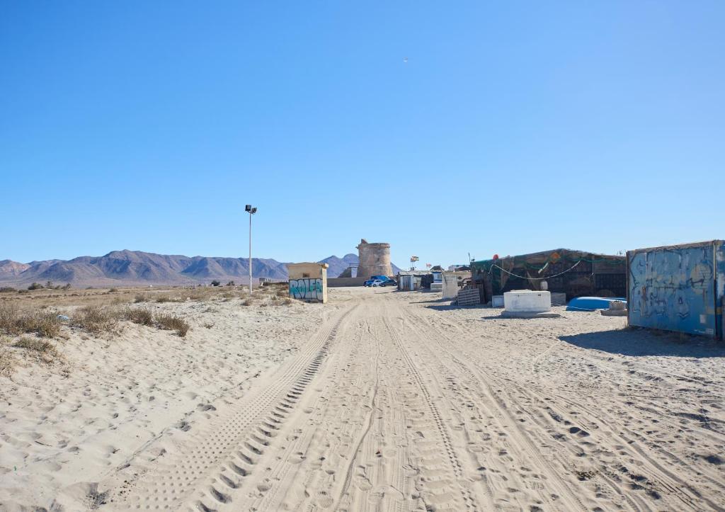
[[(350, 265), (357, 265), (354, 254), (330, 256), (328, 277), (336, 277)], [(285, 263), (265, 258), (252, 258), (252, 276), (287, 278)], [(397, 267), (393, 265), (394, 271)], [(25, 286), (70, 283), (73, 286), (131, 286), (148, 284), (199, 284), (218, 280), (249, 282), (249, 258), (188, 257), (159, 255), (153, 252), (112, 251), (104, 256), (80, 256), (72, 260), (44, 260), (18, 263), (0, 260), (0, 286)]]

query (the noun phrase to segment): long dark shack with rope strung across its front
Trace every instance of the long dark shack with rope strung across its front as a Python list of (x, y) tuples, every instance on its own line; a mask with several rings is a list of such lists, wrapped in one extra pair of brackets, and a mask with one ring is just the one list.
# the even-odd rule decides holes
[[(564, 293), (566, 299), (581, 295), (624, 297), (626, 258), (571, 249), (554, 249), (528, 255), (507, 256), (471, 263), (473, 286), (481, 301), (512, 290)], [(542, 283), (546, 285), (542, 286)]]

